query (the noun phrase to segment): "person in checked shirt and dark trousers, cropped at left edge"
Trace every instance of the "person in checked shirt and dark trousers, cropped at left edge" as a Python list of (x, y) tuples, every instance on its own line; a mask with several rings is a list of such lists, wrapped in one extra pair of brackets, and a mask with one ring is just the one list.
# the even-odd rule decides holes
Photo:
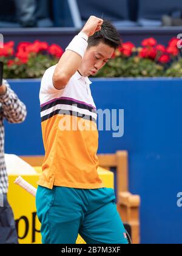
[(18, 244), (12, 208), (8, 204), (8, 176), (4, 158), (4, 120), (22, 123), (27, 110), (6, 80), (0, 86), (0, 244)]

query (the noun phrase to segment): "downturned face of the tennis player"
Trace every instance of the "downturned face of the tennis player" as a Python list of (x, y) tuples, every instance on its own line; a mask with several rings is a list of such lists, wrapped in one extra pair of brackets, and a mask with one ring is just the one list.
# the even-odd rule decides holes
[(84, 77), (94, 76), (111, 59), (114, 51), (114, 48), (104, 43), (90, 47), (83, 57), (79, 73)]

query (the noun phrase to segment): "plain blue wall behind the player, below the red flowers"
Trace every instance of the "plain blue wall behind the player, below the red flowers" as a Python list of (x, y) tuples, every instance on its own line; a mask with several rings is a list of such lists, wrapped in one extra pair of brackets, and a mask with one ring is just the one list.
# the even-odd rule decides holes
[[(42, 155), (40, 80), (9, 80), (27, 105), (24, 124), (5, 124), (5, 152)], [(181, 243), (181, 79), (93, 79), (96, 106), (124, 109), (124, 135), (99, 132), (98, 153), (129, 151), (130, 191), (141, 196), (142, 243)]]

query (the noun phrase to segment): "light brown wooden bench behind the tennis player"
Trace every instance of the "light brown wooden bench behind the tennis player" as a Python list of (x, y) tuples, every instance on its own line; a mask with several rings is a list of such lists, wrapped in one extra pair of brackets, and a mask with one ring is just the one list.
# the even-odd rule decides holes
[[(21, 157), (32, 166), (41, 166), (43, 156)], [(132, 229), (132, 242), (140, 243), (140, 196), (129, 192), (128, 183), (128, 153), (118, 151), (116, 154), (98, 155), (99, 166), (116, 169), (117, 177), (117, 208), (123, 222), (130, 225)]]

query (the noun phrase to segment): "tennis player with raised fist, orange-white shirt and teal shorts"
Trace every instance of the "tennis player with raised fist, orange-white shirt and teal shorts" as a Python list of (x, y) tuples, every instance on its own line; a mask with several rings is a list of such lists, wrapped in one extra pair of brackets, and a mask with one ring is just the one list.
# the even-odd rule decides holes
[(127, 244), (114, 190), (104, 187), (97, 172), (97, 116), (88, 79), (119, 45), (110, 21), (90, 16), (42, 77), (45, 158), (36, 208), (44, 244), (74, 244), (78, 233), (88, 244)]

